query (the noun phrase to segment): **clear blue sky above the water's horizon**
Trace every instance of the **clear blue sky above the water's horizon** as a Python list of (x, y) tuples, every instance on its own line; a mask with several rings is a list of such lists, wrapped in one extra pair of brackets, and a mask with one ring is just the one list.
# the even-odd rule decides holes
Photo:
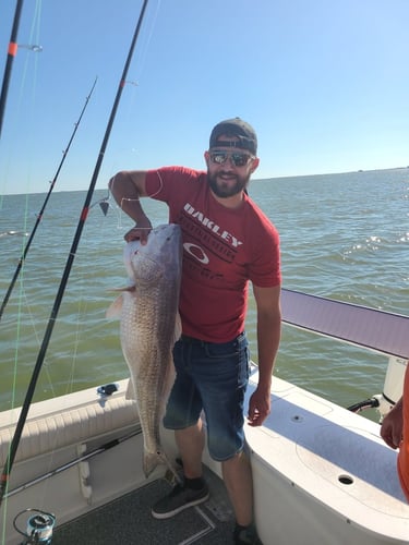
[[(137, 0), (26, 0), (0, 138), (0, 194), (94, 172)], [(15, 1), (1, 5), (3, 73)], [(151, 0), (97, 189), (120, 169), (203, 168), (218, 121), (258, 134), (254, 178), (409, 165), (408, 0)]]

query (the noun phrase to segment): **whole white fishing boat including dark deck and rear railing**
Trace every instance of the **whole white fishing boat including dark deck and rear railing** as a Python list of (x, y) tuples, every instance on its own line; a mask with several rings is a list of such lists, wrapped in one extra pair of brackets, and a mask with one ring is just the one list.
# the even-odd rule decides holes
[[(282, 290), (284, 323), (311, 335), (382, 353), (384, 390), (348, 410), (274, 377), (272, 413), (245, 427), (254, 479), (255, 521), (264, 545), (409, 543), (409, 506), (396, 472), (396, 452), (380, 424), (359, 414), (377, 407), (380, 419), (399, 399), (409, 355), (409, 316)], [(257, 383), (254, 364), (248, 389)], [(207, 502), (158, 521), (151, 505), (175, 474), (142, 471), (143, 437), (128, 379), (34, 403), (2, 505), (5, 544), (226, 544), (233, 513), (208, 452)], [(352, 408), (351, 408), (352, 409)], [(0, 414), (4, 463), (19, 409)], [(165, 449), (178, 471), (171, 433)], [(38, 508), (38, 506), (41, 506)], [(47, 506), (47, 508), (46, 508)], [(34, 541), (37, 540), (37, 541)]]

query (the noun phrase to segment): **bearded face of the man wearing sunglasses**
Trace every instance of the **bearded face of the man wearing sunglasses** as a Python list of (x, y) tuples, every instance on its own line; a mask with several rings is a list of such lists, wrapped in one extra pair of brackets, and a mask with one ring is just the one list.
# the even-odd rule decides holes
[[(245, 149), (229, 146), (237, 138), (220, 137), (218, 146), (205, 153), (208, 183), (220, 198), (232, 197), (248, 185), (258, 159)], [(226, 146), (222, 143), (226, 142)]]

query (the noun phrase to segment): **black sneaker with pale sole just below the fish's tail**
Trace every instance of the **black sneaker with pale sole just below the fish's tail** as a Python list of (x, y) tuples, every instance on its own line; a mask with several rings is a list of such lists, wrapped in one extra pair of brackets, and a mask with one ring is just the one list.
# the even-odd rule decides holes
[(155, 519), (169, 519), (188, 507), (203, 504), (208, 499), (208, 488), (204, 484), (199, 491), (188, 488), (177, 484), (172, 492), (159, 499), (152, 508), (152, 514)]

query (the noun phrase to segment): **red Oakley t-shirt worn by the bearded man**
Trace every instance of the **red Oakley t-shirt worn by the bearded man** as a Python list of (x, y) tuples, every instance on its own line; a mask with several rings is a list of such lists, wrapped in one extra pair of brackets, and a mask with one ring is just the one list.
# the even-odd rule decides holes
[(248, 281), (262, 288), (280, 283), (276, 228), (246, 195), (239, 208), (220, 205), (206, 172), (151, 170), (146, 191), (168, 204), (169, 222), (182, 229), (183, 334), (209, 342), (232, 340), (244, 329)]

